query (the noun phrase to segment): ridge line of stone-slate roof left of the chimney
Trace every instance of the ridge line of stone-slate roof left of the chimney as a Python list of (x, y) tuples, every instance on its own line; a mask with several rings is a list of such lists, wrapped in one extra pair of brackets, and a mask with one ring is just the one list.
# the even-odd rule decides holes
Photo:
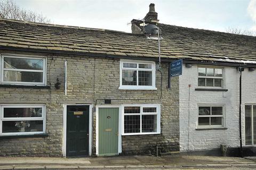
[[(61, 25), (61, 24), (31, 22), (31, 21), (22, 21), (22, 20), (13, 20), (13, 19), (4, 19), (4, 18), (0, 18), (0, 21), (28, 23), (28, 24), (34, 24), (34, 25), (44, 25), (44, 26), (48, 26), (48, 27), (74, 28), (74, 29), (84, 29), (84, 30), (96, 30), (96, 31), (103, 31), (103, 32), (105, 32), (105, 31), (112, 31), (112, 32), (120, 32), (120, 33), (129, 33), (129, 32), (124, 32), (124, 31), (101, 29), (101, 28), (79, 27), (79, 26), (72, 26), (72, 25)], [(133, 33), (129, 33), (129, 34), (133, 34)]]

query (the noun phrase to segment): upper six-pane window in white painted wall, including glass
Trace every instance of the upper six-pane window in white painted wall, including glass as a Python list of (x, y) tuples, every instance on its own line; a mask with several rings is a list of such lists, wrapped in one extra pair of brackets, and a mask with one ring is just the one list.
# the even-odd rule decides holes
[(198, 67), (198, 86), (223, 87), (223, 70)]

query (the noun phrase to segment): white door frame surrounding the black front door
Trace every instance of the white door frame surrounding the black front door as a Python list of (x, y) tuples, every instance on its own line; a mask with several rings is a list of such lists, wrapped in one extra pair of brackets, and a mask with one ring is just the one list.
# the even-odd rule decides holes
[(89, 156), (92, 155), (92, 104), (63, 104), (62, 155), (67, 156), (67, 106), (89, 106)]

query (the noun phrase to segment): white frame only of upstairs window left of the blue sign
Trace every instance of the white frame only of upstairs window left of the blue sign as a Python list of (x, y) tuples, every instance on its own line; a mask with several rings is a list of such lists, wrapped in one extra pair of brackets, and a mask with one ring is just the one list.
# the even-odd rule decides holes
[[(137, 68), (123, 67), (123, 63), (137, 64)], [(151, 64), (151, 69), (140, 69), (139, 64)], [(122, 76), (123, 70), (137, 71), (137, 86), (123, 85)], [(152, 72), (152, 86), (139, 86), (139, 71), (151, 71)], [(157, 90), (156, 88), (156, 63), (151, 61), (133, 61), (133, 60), (120, 60), (120, 85), (119, 90)]]

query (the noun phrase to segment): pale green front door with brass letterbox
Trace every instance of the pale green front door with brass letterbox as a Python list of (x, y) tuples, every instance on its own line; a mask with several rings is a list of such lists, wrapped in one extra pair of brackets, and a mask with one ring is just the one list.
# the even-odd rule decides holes
[(99, 156), (118, 154), (119, 108), (99, 108)]

